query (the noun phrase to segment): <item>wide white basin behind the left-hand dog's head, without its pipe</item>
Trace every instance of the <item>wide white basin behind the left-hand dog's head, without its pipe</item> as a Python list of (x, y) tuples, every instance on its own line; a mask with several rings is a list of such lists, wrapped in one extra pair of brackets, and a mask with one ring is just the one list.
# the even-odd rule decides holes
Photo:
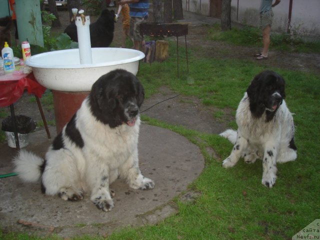
[(134, 75), (144, 53), (134, 49), (93, 47), (92, 64), (80, 64), (79, 49), (40, 53), (28, 58), (35, 79), (48, 89), (58, 91), (89, 91), (103, 74), (125, 69)]

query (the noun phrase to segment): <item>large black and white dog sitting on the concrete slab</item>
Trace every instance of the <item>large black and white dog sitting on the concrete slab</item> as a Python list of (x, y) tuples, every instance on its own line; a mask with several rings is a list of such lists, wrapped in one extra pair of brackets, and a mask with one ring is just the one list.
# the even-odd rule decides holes
[(143, 87), (130, 72), (117, 69), (102, 75), (45, 158), (21, 150), (14, 159), (16, 172), (27, 182), (41, 179), (43, 193), (64, 200), (81, 200), (88, 192), (103, 211), (113, 207), (109, 184), (117, 177), (134, 189), (153, 188), (138, 166), (143, 98)]

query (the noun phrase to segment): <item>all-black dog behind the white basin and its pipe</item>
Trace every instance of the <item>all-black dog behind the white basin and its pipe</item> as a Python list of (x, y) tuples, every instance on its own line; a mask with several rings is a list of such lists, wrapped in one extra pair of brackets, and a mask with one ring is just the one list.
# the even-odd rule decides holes
[[(91, 47), (108, 47), (113, 40), (114, 10), (102, 10), (98, 19), (90, 24)], [(68, 34), (73, 41), (78, 41), (76, 25), (70, 23), (64, 33)]]

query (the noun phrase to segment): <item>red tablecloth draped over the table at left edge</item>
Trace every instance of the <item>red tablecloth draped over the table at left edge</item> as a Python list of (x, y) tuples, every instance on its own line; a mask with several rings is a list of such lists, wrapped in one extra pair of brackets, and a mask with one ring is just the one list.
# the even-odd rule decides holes
[(37, 97), (41, 97), (45, 87), (41, 86), (34, 78), (33, 73), (0, 72), (0, 107), (9, 106), (17, 101), (23, 94), (24, 89)]

